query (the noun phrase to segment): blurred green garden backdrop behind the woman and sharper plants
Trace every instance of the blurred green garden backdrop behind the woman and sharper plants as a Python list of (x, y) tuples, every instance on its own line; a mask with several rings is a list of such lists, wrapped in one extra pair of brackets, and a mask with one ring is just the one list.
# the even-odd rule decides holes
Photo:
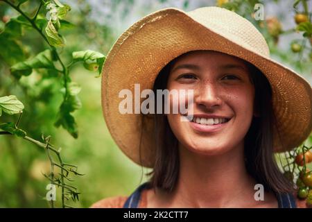
[[(18, 1), (11, 1), (18, 3)], [(21, 8), (35, 11), (39, 1), (25, 1)], [(65, 39), (64, 48), (58, 49), (65, 63), (73, 51), (91, 49), (107, 55), (116, 39), (131, 24), (155, 10), (167, 7), (193, 10), (202, 6), (223, 6), (235, 10), (249, 19), (263, 33), (270, 46), (272, 58), (298, 71), (312, 83), (312, 40), (304, 38), (297, 26), (295, 14), (304, 12), (303, 4), (294, 10), (295, 1), (185, 1), (185, 0), (116, 0), (116, 1), (60, 1), (71, 6), (60, 33)], [(263, 3), (266, 21), (252, 17), (255, 3)], [(311, 12), (312, 1), (306, 1)], [(46, 8), (40, 11), (46, 14)], [(0, 1), (0, 30), (19, 13)], [(311, 15), (310, 15), (311, 16)], [(0, 31), (1, 33), (1, 31)], [(1, 37), (1, 34), (0, 34)], [(65, 162), (78, 166), (85, 176), (73, 176), (72, 182), (82, 194), (73, 207), (89, 207), (108, 196), (127, 196), (147, 178), (143, 169), (133, 163), (116, 146), (108, 132), (101, 110), (101, 78), (86, 70), (82, 64), (73, 65), (71, 79), (81, 86), (79, 98), (82, 108), (73, 112), (78, 126), (78, 138), (64, 128), (55, 128), (55, 118), (62, 103), (60, 78), (33, 71), (20, 79), (10, 74), (10, 66), (31, 58), (47, 48), (42, 37), (32, 28), (24, 28), (16, 39), (22, 53), (0, 38), (0, 96), (14, 94), (25, 105), (19, 127), (30, 137), (41, 140), (42, 134), (51, 135), (51, 143), (62, 147)], [(296, 48), (297, 47), (297, 48)], [(298, 51), (298, 47), (301, 47)], [(16, 51), (17, 50), (17, 51)], [(10, 55), (10, 53), (12, 53)], [(12, 56), (13, 55), (13, 56)], [(48, 77), (42, 77), (46, 75)], [(16, 122), (18, 115), (3, 114), (0, 123)], [(311, 140), (311, 139), (310, 139)], [(311, 144), (311, 141), (308, 142)], [(311, 164), (309, 165), (311, 166)], [(0, 207), (49, 207), (44, 200), (49, 180), (50, 163), (45, 151), (21, 138), (0, 135)], [(59, 192), (59, 191), (58, 191)], [(60, 198), (57, 196), (57, 205)]]

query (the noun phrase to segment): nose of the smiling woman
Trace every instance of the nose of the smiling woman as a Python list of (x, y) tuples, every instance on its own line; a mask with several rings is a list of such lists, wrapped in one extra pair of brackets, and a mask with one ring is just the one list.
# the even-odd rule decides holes
[(222, 104), (220, 90), (214, 83), (204, 83), (196, 90), (194, 102), (207, 109), (218, 107)]

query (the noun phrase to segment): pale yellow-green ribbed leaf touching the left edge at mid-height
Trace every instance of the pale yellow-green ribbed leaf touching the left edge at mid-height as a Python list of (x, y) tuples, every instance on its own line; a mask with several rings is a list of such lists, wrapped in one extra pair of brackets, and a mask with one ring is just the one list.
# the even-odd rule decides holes
[(24, 110), (24, 105), (14, 95), (2, 96), (0, 97), (0, 109), (12, 115)]

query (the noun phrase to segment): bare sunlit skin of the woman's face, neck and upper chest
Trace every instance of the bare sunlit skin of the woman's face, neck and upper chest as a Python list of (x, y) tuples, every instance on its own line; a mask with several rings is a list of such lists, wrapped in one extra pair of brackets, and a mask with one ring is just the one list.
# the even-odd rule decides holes
[[(181, 65), (183, 68), (177, 69)], [(254, 85), (243, 60), (216, 51), (193, 51), (178, 58), (168, 78), (171, 89), (193, 89), (193, 115), (229, 121), (206, 130), (182, 114), (167, 114), (179, 142), (180, 176), (170, 194), (148, 190), (148, 207), (277, 207), (273, 194), (254, 200), (244, 164), (244, 137), (254, 110)]]

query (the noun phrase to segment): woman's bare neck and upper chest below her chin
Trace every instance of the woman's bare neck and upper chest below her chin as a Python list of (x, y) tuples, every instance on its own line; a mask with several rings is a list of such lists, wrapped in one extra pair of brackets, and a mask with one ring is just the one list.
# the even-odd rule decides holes
[(163, 207), (254, 207), (270, 203), (254, 200), (257, 182), (247, 173), (243, 144), (222, 155), (198, 155), (180, 146), (180, 174), (170, 194), (158, 190), (158, 205)]

